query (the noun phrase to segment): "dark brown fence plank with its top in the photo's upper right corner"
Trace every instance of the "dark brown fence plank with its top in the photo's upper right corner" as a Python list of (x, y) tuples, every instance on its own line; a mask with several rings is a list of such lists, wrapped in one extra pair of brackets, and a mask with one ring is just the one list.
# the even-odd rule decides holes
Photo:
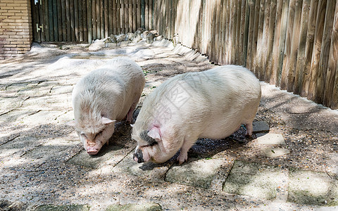
[(320, 61), (318, 66), (317, 86), (315, 87), (315, 99), (317, 103), (323, 103), (325, 82), (327, 77), (327, 63), (330, 55), (330, 44), (332, 37), (332, 26), (334, 20), (335, 0), (327, 0), (325, 12), (325, 25), (323, 30), (323, 41), (320, 49)]

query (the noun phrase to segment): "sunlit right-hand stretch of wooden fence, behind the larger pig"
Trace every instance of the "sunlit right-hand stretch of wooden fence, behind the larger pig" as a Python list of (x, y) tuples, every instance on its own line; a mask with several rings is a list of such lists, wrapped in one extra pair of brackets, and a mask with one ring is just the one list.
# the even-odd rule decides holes
[(154, 8), (168, 39), (338, 108), (338, 1), (158, 0)]

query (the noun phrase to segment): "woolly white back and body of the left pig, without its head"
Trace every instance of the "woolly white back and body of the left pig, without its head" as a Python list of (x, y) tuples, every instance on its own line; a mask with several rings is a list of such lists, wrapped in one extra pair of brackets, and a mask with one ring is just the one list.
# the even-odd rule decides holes
[(143, 87), (142, 69), (132, 60), (129, 58), (108, 60), (105, 65), (89, 72), (75, 85), (73, 89), (75, 115), (83, 113), (83, 110), (94, 113), (103, 110), (108, 117), (122, 120), (134, 98), (142, 93)]

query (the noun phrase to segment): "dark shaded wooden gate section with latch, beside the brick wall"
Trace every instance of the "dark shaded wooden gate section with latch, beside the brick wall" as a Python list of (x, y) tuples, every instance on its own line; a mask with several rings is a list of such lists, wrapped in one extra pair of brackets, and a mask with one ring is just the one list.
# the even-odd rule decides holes
[(91, 42), (153, 28), (153, 0), (31, 0), (33, 40)]

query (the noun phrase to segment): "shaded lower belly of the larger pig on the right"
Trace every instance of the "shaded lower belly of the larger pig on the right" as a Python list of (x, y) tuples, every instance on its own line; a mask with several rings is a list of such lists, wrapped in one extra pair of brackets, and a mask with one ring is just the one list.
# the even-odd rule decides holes
[(205, 127), (203, 133), (199, 138), (206, 139), (224, 139), (227, 136), (230, 136), (239, 129), (242, 121), (232, 120), (216, 120), (212, 123), (209, 123), (208, 127)]

